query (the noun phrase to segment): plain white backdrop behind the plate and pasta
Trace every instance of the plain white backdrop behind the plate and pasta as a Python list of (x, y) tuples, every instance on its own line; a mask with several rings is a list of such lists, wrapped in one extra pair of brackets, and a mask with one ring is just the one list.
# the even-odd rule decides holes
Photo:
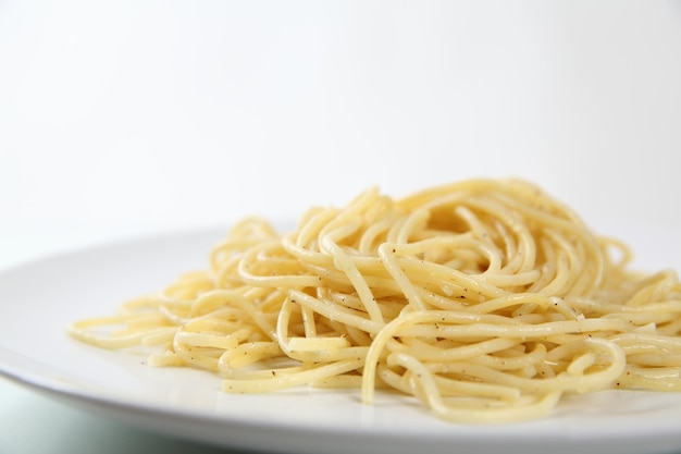
[(471, 176), (678, 230), (680, 154), (679, 1), (0, 0), (0, 267)]

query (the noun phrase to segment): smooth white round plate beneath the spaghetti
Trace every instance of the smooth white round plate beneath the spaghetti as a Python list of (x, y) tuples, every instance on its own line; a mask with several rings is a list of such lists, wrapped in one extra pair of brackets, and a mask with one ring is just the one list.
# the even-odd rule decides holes
[[(681, 451), (681, 393), (605, 392), (567, 401), (540, 420), (469, 427), (437, 420), (412, 400), (396, 395), (379, 395), (374, 406), (366, 406), (357, 391), (224, 394), (211, 373), (150, 368), (144, 357), (99, 351), (67, 338), (64, 327), (70, 321), (109, 314), (131, 296), (201, 268), (222, 234), (141, 238), (0, 273), (0, 372), (140, 427), (270, 452)], [(678, 265), (681, 254), (673, 237), (656, 235), (654, 243), (651, 250), (658, 247), (677, 260), (667, 265)]]

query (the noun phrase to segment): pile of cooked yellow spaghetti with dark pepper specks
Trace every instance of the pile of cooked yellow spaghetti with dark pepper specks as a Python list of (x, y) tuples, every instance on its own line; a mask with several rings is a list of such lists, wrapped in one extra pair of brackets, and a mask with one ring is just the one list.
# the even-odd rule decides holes
[(285, 234), (245, 219), (206, 271), (69, 330), (226, 392), (389, 389), (451, 421), (520, 420), (569, 394), (681, 391), (681, 285), (629, 261), (528, 182), (370, 189)]

